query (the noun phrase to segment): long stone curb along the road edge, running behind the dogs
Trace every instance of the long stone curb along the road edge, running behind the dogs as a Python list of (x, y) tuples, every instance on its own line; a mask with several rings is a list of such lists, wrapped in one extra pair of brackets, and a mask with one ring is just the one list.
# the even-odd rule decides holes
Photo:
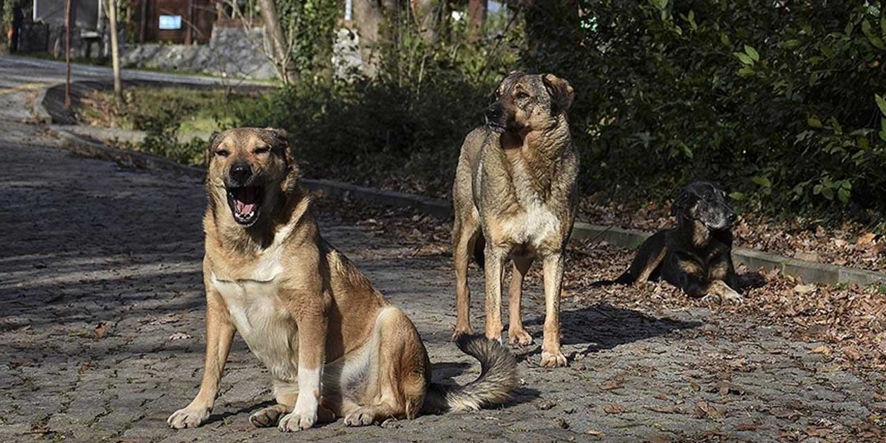
[[(179, 174), (202, 177), (202, 168), (184, 166), (174, 161), (161, 159), (144, 152), (132, 152), (120, 148), (114, 148), (100, 144), (81, 136), (75, 135), (60, 126), (50, 126), (52, 132), (68, 141), (68, 149), (73, 152), (113, 159), (122, 164), (136, 167), (166, 169)], [(439, 218), (449, 218), (452, 215), (452, 206), (449, 202), (439, 198), (426, 198), (392, 190), (377, 190), (356, 186), (333, 180), (302, 179), (301, 183), (314, 192), (339, 198), (359, 198), (372, 201), (385, 206), (411, 207), (425, 214), (431, 214)], [(635, 249), (652, 235), (636, 229), (622, 229), (613, 226), (601, 226), (576, 221), (572, 229), (572, 240), (592, 239), (605, 241), (611, 245), (617, 245)], [(882, 272), (868, 271), (865, 269), (846, 268), (815, 263), (812, 261), (797, 260), (773, 253), (764, 253), (746, 248), (734, 248), (733, 259), (750, 269), (765, 268), (766, 270), (779, 269), (785, 276), (793, 276), (804, 283), (815, 284), (884, 284), (886, 274)]]

